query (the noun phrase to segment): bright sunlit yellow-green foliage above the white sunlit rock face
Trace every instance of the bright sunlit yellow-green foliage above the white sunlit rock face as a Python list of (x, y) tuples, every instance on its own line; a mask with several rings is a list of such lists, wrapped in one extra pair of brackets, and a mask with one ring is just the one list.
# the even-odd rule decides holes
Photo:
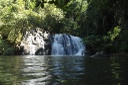
[[(9, 3), (10, 5), (7, 6)], [(64, 17), (63, 11), (56, 8), (54, 4), (46, 3), (43, 9), (35, 10), (33, 8), (34, 4), (30, 6), (26, 3), (32, 4), (34, 1), (16, 0), (15, 2), (6, 2), (7, 5), (3, 6), (0, 11), (0, 33), (2, 36), (6, 36), (11, 43), (20, 43), (24, 32), (31, 28), (40, 27), (52, 30), (54, 25)], [(18, 41), (17, 38), (19, 38)]]

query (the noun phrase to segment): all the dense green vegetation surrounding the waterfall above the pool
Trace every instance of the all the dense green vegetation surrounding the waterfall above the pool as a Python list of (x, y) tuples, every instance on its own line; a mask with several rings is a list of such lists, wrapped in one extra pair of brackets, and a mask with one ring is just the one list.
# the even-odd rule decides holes
[(36, 27), (80, 36), (93, 52), (128, 51), (127, 9), (127, 0), (0, 0), (0, 53), (15, 54)]

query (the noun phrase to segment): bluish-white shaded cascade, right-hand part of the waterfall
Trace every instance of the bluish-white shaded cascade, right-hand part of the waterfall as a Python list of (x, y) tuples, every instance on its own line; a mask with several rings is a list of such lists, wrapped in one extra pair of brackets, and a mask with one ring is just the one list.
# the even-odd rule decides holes
[(52, 55), (84, 55), (85, 46), (81, 38), (68, 34), (55, 34), (52, 41)]

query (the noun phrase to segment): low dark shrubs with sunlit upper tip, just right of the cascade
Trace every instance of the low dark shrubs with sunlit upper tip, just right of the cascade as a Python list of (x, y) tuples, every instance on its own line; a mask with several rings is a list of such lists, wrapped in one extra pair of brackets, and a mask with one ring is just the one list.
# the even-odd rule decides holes
[(109, 31), (107, 35), (90, 35), (84, 39), (85, 43), (95, 51), (115, 51), (115, 41), (119, 37), (121, 28), (119, 26), (114, 27), (113, 30)]

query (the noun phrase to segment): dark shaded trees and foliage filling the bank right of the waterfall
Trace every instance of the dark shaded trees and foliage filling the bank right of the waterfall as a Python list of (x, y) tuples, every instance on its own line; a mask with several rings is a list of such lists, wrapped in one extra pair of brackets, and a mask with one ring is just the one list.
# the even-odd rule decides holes
[(85, 37), (85, 42), (94, 45), (97, 51), (127, 50), (128, 1), (87, 0), (87, 2), (87, 9), (79, 22), (80, 33)]

